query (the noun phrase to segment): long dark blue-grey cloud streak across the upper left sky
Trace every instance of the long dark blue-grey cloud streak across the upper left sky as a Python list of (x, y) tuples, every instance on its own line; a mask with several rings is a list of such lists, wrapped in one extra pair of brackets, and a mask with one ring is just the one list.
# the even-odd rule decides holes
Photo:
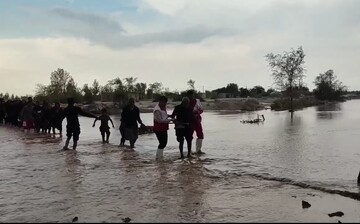
[(211, 36), (229, 35), (233, 32), (225, 28), (196, 25), (178, 30), (125, 35), (126, 31), (120, 23), (106, 17), (65, 8), (53, 9), (51, 13), (75, 21), (61, 23), (56, 31), (59, 35), (86, 38), (93, 43), (112, 48), (136, 47), (151, 43), (197, 43)]

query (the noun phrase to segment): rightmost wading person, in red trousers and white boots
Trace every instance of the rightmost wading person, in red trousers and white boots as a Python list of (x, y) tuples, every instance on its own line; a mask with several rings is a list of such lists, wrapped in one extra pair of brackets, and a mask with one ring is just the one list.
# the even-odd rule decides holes
[(191, 124), (192, 127), (192, 133), (194, 133), (194, 131), (196, 132), (196, 154), (204, 154), (204, 152), (201, 151), (201, 147), (202, 147), (202, 142), (204, 139), (204, 133), (203, 133), (203, 129), (202, 129), (202, 125), (201, 125), (201, 114), (204, 112), (203, 107), (200, 103), (199, 99), (195, 98), (195, 92), (194, 90), (188, 90), (187, 91), (187, 96), (190, 99), (190, 107), (192, 108), (194, 117), (195, 117), (195, 121)]

